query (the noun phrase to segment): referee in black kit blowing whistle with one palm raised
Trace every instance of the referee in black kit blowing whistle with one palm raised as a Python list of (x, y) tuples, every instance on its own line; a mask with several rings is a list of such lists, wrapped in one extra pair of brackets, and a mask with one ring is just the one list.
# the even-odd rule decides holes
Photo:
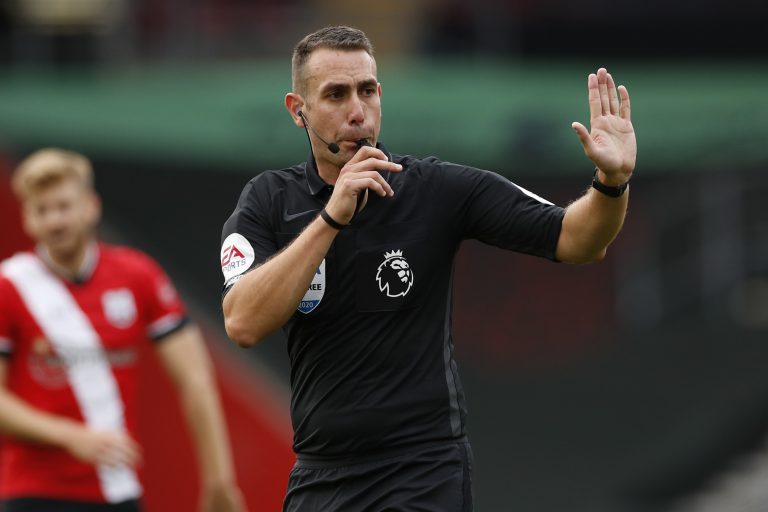
[[(283, 327), (297, 462), (284, 511), (472, 510), (472, 452), (453, 357), (455, 254), (475, 238), (554, 261), (600, 260), (619, 232), (636, 143), (629, 95), (589, 75), (596, 167), (567, 209), (492, 172), (391, 153), (378, 140), (370, 41), (304, 37), (285, 106), (306, 162), (262, 172), (224, 224), (229, 336), (253, 346)], [(435, 84), (439, 87), (439, 84)]]

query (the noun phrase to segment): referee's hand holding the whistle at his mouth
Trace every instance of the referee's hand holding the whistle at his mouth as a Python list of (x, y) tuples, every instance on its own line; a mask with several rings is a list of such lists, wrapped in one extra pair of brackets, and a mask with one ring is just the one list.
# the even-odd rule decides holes
[[(325, 210), (340, 224), (349, 224), (357, 209), (357, 198), (372, 190), (381, 197), (395, 195), (379, 171), (400, 172), (403, 166), (390, 162), (378, 148), (363, 146), (341, 168), (333, 188), (333, 195)], [(360, 210), (365, 207), (365, 202)]]

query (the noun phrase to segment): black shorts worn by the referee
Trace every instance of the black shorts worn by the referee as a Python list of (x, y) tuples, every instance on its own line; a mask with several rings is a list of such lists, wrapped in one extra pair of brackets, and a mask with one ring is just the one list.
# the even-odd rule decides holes
[(352, 464), (296, 461), (283, 512), (472, 512), (472, 449), (456, 441)]

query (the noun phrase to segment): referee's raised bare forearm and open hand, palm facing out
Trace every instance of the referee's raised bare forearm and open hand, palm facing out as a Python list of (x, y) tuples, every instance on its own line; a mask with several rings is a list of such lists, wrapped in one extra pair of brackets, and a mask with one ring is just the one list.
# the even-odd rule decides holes
[[(637, 142), (630, 119), (629, 93), (618, 89), (610, 74), (600, 68), (587, 79), (591, 132), (573, 123), (587, 157), (597, 166), (597, 179), (606, 186), (629, 182), (635, 168)], [(619, 233), (627, 212), (627, 189), (611, 197), (590, 188), (565, 212), (556, 257), (570, 263), (589, 263), (605, 256)]]

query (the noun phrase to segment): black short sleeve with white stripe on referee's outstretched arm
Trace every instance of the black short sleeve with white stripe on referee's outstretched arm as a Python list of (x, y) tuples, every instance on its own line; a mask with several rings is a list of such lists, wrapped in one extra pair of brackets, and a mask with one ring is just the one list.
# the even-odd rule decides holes
[(496, 173), (440, 162), (441, 201), (463, 238), (555, 259), (565, 209)]

